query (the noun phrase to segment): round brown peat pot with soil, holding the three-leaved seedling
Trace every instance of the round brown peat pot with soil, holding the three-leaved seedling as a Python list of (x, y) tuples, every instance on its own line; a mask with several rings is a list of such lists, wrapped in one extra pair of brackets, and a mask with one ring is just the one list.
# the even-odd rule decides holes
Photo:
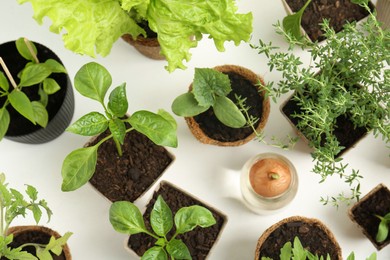
[[(265, 98), (265, 91), (259, 89), (260, 82), (264, 85), (263, 79), (251, 70), (236, 65), (217, 66), (214, 69), (229, 76), (232, 91), (228, 98), (235, 101), (235, 94), (246, 98), (246, 105), (250, 107), (248, 112), (259, 118), (255, 127), (258, 132), (261, 132), (267, 123), (270, 112), (269, 98)], [(192, 84), (190, 89), (192, 89)], [(256, 136), (250, 127), (231, 128), (225, 126), (216, 118), (212, 108), (197, 116), (186, 117), (185, 120), (192, 134), (205, 144), (239, 146), (251, 141)]]

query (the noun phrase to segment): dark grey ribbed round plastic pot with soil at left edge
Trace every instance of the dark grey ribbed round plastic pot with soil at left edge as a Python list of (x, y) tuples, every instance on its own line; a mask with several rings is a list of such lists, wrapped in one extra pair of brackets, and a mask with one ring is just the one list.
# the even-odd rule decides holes
[[(39, 43), (34, 42), (34, 45), (38, 51), (38, 59), (46, 61), (47, 59), (54, 59), (58, 62), (61, 60), (58, 56)], [(18, 53), (15, 41), (6, 42), (0, 45), (0, 57), (3, 58), (7, 64), (13, 78), (16, 83), (19, 83), (17, 74), (27, 64), (27, 60), (24, 59)], [(0, 68), (1, 71), (2, 68)], [(49, 113), (49, 122), (45, 128), (40, 127), (38, 124), (34, 125), (28, 119), (20, 115), (13, 107), (7, 106), (7, 110), (10, 113), (10, 125), (5, 135), (6, 139), (29, 144), (40, 144), (49, 142), (60, 134), (70, 124), (74, 112), (74, 95), (71, 80), (67, 74), (64, 73), (53, 73), (50, 78), (57, 81), (61, 89), (49, 95), (48, 104), (46, 110)], [(31, 86), (23, 88), (23, 92), (30, 98), (30, 100), (39, 100), (38, 87)], [(0, 97), (0, 107), (4, 104), (4, 99)]]

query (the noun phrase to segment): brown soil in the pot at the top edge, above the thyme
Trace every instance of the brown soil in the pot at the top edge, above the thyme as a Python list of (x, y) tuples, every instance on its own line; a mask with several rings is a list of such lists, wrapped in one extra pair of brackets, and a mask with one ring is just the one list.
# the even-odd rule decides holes
[[(293, 12), (299, 11), (307, 0), (286, 0)], [(370, 3), (373, 9), (372, 3)], [(347, 22), (359, 21), (368, 15), (367, 11), (351, 3), (350, 0), (312, 0), (302, 16), (301, 25), (309, 38), (314, 41), (322, 41), (321, 26), (323, 19), (330, 21), (330, 26), (339, 32)]]

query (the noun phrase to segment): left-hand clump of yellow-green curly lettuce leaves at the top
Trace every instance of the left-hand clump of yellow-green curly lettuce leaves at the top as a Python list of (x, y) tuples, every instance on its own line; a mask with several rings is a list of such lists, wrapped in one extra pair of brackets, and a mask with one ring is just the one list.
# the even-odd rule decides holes
[(134, 37), (144, 30), (122, 8), (118, 0), (18, 0), (31, 2), (34, 19), (52, 21), (50, 30), (61, 34), (69, 50), (95, 57), (106, 56), (123, 34)]

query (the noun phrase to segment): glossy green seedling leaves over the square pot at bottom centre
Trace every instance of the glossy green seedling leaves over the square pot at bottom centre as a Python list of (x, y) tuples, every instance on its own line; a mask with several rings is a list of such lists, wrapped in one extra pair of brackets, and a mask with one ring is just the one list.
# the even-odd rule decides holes
[[(134, 235), (145, 233), (156, 239), (141, 259), (192, 259), (184, 242), (177, 237), (196, 227), (207, 228), (216, 223), (212, 213), (198, 205), (183, 207), (173, 217), (172, 211), (161, 197), (158, 196), (151, 215), (150, 223), (153, 231), (149, 231), (144, 223), (140, 210), (128, 201), (114, 202), (110, 208), (110, 222), (113, 228), (124, 234)], [(168, 238), (168, 233), (175, 224), (175, 233)]]

